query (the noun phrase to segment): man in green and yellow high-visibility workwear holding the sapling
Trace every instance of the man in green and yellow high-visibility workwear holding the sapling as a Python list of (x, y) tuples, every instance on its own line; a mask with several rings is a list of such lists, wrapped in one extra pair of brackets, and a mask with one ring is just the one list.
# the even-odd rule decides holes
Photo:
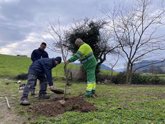
[(80, 60), (87, 74), (87, 87), (85, 96), (93, 97), (95, 95), (96, 90), (96, 58), (93, 54), (93, 50), (91, 49), (91, 47), (85, 42), (83, 42), (82, 39), (77, 38), (75, 41), (75, 45), (79, 47), (78, 51), (65, 63), (68, 64), (70, 62), (76, 61), (77, 59)]

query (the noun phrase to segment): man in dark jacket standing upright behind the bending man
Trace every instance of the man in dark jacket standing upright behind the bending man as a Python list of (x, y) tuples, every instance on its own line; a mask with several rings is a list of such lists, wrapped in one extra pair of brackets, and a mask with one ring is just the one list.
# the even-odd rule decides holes
[[(46, 49), (46, 43), (42, 42), (38, 49), (33, 50), (32, 54), (31, 54), (32, 62), (35, 62), (36, 60), (41, 59), (41, 58), (49, 58), (48, 53), (45, 51), (45, 49)], [(31, 90), (31, 95), (35, 95), (36, 84), (37, 84), (37, 80), (34, 83), (34, 86)]]

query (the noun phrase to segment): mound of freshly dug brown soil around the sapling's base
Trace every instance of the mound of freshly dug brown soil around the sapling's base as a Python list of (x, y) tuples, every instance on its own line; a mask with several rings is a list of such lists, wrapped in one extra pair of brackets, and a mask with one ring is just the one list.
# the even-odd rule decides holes
[(96, 107), (81, 96), (67, 98), (65, 101), (62, 98), (53, 99), (29, 107), (30, 112), (45, 116), (56, 116), (66, 111), (90, 112), (95, 110)]

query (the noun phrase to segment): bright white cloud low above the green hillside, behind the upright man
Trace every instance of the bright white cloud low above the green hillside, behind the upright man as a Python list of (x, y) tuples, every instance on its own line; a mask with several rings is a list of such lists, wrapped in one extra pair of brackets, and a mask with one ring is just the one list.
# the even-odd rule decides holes
[[(43, 38), (44, 37), (44, 38)], [(25, 40), (17, 41), (15, 43), (10, 43), (5, 46), (0, 47), (0, 54), (8, 54), (8, 55), (27, 55), (30, 57), (31, 52), (34, 49), (37, 49), (41, 42), (47, 43), (46, 51), (49, 54), (49, 57), (56, 57), (60, 56), (59, 52), (54, 52), (53, 49), (53, 42), (50, 41), (51, 37), (48, 33), (30, 33)]]

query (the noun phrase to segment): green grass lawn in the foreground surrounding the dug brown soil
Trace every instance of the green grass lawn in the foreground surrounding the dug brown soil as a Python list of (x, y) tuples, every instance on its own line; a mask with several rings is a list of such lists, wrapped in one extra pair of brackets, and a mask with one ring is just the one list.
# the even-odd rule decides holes
[[(6, 83), (9, 83), (6, 85)], [(0, 79), (1, 96), (8, 96), (12, 109), (22, 122), (31, 124), (164, 124), (165, 87), (141, 85), (98, 85), (97, 98), (87, 98), (97, 111), (89, 113), (66, 112), (57, 117), (34, 116), (27, 113), (27, 107), (19, 105), (18, 84), (13, 80)], [(56, 82), (59, 88), (64, 83)], [(85, 84), (74, 83), (71, 95), (85, 91)], [(5, 90), (7, 89), (7, 90)], [(32, 104), (39, 102), (30, 97)], [(0, 118), (1, 120), (2, 118)], [(3, 119), (1, 120), (3, 121)]]

